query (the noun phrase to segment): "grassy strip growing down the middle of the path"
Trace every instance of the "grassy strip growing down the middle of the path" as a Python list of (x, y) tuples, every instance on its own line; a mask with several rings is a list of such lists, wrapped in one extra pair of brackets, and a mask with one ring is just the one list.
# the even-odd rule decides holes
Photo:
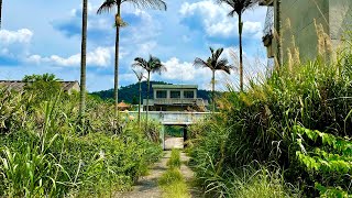
[(186, 180), (180, 173), (180, 151), (172, 150), (170, 158), (167, 161), (168, 169), (158, 179), (163, 189), (163, 197), (190, 198)]

